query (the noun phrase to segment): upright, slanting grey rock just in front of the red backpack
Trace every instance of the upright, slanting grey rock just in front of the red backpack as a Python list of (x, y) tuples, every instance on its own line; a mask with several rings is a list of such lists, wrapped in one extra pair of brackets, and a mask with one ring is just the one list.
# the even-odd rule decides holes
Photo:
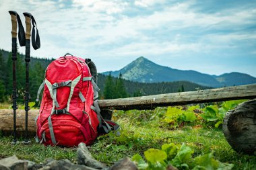
[(104, 169), (106, 165), (94, 159), (88, 151), (85, 143), (79, 143), (77, 148), (77, 162), (79, 165), (86, 165), (94, 169)]

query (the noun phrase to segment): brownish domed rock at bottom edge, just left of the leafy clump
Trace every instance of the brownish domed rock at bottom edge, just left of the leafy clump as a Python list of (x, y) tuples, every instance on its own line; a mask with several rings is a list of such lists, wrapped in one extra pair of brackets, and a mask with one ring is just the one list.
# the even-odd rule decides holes
[(137, 166), (129, 158), (121, 159), (110, 170), (137, 170)]

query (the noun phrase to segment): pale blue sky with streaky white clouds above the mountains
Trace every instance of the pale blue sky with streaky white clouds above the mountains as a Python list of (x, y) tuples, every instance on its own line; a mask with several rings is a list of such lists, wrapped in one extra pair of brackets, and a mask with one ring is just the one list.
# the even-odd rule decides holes
[(0, 0), (0, 48), (11, 51), (9, 10), (24, 27), (22, 13), (34, 15), (41, 47), (32, 56), (69, 52), (100, 73), (144, 56), (172, 69), (256, 77), (256, 1)]

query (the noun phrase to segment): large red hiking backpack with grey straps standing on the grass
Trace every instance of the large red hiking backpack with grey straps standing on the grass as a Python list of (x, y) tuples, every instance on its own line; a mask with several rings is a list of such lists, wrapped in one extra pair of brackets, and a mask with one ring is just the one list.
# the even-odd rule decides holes
[(38, 90), (39, 97), (44, 87), (36, 120), (40, 142), (61, 146), (77, 146), (80, 142), (89, 145), (98, 136), (98, 131), (108, 133), (119, 128), (115, 122), (104, 120), (100, 115), (96, 77), (96, 67), (90, 59), (66, 54), (51, 62)]

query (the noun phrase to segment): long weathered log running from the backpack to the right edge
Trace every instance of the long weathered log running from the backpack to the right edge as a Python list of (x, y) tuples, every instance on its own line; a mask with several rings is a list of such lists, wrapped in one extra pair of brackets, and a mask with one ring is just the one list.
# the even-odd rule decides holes
[(99, 101), (99, 105), (102, 110), (152, 110), (158, 106), (253, 99), (255, 97), (256, 84), (252, 84), (124, 99), (104, 99)]

